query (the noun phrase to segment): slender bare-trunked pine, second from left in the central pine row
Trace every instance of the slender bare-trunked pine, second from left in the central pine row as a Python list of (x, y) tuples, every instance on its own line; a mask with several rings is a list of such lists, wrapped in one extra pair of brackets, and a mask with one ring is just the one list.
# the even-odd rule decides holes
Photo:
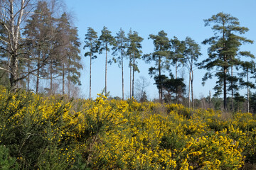
[(107, 95), (107, 52), (110, 52), (110, 46), (114, 46), (116, 40), (111, 35), (111, 31), (107, 27), (103, 27), (99, 38), (100, 54), (103, 50), (106, 52), (106, 62), (105, 62), (105, 95)]

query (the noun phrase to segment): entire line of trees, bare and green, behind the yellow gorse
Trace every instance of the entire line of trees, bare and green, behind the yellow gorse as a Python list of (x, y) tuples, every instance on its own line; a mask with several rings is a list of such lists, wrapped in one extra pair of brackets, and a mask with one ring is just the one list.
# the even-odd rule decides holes
[[(70, 96), (72, 84), (80, 85), (82, 70), (78, 28), (73, 26), (69, 14), (55, 13), (58, 1), (3, 0), (0, 2), (0, 76), (1, 84), (11, 89), (26, 88), (38, 93), (39, 85), (48, 93), (55, 92), (54, 85), (61, 81), (61, 93)], [(235, 103), (247, 101), (250, 110), (250, 89), (255, 89), (251, 78), (255, 78), (254, 55), (240, 50), (242, 45), (252, 44), (242, 35), (249, 29), (240, 26), (238, 18), (227, 13), (217, 13), (206, 19), (205, 26), (211, 26), (213, 36), (202, 42), (208, 45), (208, 57), (198, 62), (201, 46), (190, 37), (178, 40), (168, 38), (164, 30), (150, 34), (154, 50), (143, 54), (142, 41), (137, 31), (125, 33), (122, 28), (116, 35), (104, 27), (98, 36), (93, 28), (85, 34), (85, 57), (90, 57), (90, 94), (92, 98), (92, 60), (105, 55), (105, 94), (107, 94), (107, 65), (117, 63), (122, 73), (122, 99), (124, 100), (124, 60), (129, 60), (130, 94), (134, 96), (135, 72), (139, 72), (138, 60), (154, 63), (149, 75), (154, 78), (159, 90), (159, 101), (181, 103), (188, 96), (188, 106), (194, 107), (193, 77), (195, 69), (206, 69), (203, 84), (216, 77), (214, 97), (223, 94), (223, 108), (234, 111)], [(112, 57), (110, 57), (110, 54)], [(247, 59), (246, 59), (247, 57)], [(174, 70), (171, 70), (173, 66)], [(178, 77), (178, 68), (188, 70), (188, 94), (184, 79)], [(33, 82), (31, 82), (34, 80)], [(239, 89), (246, 88), (247, 95), (241, 96)], [(230, 98), (228, 97), (230, 96)], [(142, 93), (141, 96), (146, 96)], [(210, 100), (210, 96), (209, 99)], [(230, 105), (230, 106), (229, 106)]]

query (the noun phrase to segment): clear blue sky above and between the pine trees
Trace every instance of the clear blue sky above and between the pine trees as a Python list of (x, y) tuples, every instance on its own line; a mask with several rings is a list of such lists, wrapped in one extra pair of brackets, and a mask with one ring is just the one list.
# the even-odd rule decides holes
[[(148, 40), (149, 34), (157, 34), (160, 30), (168, 33), (169, 38), (176, 36), (179, 40), (184, 40), (187, 36), (193, 38), (201, 45), (201, 60), (206, 59), (207, 45), (201, 42), (213, 36), (210, 27), (205, 27), (203, 19), (219, 13), (230, 13), (239, 19), (240, 25), (249, 28), (246, 38), (256, 41), (256, 1), (255, 0), (65, 0), (68, 11), (72, 11), (75, 16), (75, 26), (78, 27), (80, 41), (84, 46), (84, 38), (87, 27), (92, 27), (100, 36), (103, 26), (116, 35), (120, 28), (126, 33), (129, 29), (135, 30), (144, 38), (142, 51), (144, 54), (153, 52), (152, 40)], [(82, 93), (89, 96), (89, 58), (81, 56), (84, 69), (82, 70)], [(249, 50), (256, 55), (255, 44), (242, 46), (241, 50)], [(109, 58), (112, 56), (109, 56)], [(105, 87), (105, 56), (98, 55), (92, 64), (92, 97), (95, 98)], [(153, 63), (152, 63), (153, 64)], [(124, 94), (129, 95), (129, 68), (125, 62), (124, 69)], [(139, 62), (140, 72), (135, 74), (135, 78), (146, 77), (151, 85), (146, 91), (149, 98), (158, 98), (158, 91), (154, 85), (154, 79), (148, 74), (151, 64)], [(182, 72), (182, 68), (180, 69)], [(174, 73), (174, 69), (173, 69)], [(188, 72), (184, 68), (184, 79), (188, 84)], [(215, 80), (206, 81), (206, 85), (201, 85), (201, 79), (205, 74), (204, 70), (194, 72), (194, 97), (208, 96), (215, 85)], [(181, 75), (181, 74), (180, 74)], [(111, 96), (122, 96), (121, 69), (117, 64), (108, 65), (107, 70), (107, 90)], [(244, 94), (243, 91), (241, 91)]]

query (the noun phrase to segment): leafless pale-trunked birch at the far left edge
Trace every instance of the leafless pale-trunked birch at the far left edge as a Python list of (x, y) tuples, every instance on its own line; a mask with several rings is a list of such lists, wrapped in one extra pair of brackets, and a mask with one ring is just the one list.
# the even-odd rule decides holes
[(0, 24), (4, 28), (6, 38), (0, 38), (1, 50), (8, 53), (8, 65), (0, 69), (9, 72), (11, 86), (16, 89), (18, 81), (27, 77), (34, 70), (30, 70), (21, 77), (18, 76), (18, 62), (24, 60), (22, 47), (22, 26), (26, 17), (33, 8), (33, 0), (1, 0), (0, 1)]

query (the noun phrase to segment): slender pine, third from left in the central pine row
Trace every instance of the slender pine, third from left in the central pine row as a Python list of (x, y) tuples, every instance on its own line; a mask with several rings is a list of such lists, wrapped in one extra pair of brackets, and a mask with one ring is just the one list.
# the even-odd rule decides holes
[(124, 57), (126, 57), (125, 50), (127, 49), (127, 37), (125, 36), (124, 30), (120, 28), (119, 32), (115, 36), (115, 39), (117, 40), (116, 45), (114, 46), (113, 55), (120, 55), (117, 57), (117, 62), (119, 65), (121, 65), (122, 69), (122, 100), (124, 100)]

